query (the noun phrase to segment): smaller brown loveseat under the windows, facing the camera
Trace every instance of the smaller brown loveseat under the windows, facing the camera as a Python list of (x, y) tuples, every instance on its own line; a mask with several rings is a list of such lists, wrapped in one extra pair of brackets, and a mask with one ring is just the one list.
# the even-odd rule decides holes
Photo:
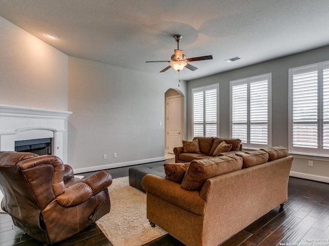
[(223, 141), (232, 146), (229, 151), (222, 152), (221, 155), (230, 155), (242, 151), (241, 140), (238, 138), (194, 137), (192, 141), (196, 141), (199, 148), (191, 152), (189, 148), (184, 148), (185, 144), (189, 142), (183, 141), (182, 147), (174, 148), (175, 162), (190, 162), (194, 159), (214, 157), (213, 153)]

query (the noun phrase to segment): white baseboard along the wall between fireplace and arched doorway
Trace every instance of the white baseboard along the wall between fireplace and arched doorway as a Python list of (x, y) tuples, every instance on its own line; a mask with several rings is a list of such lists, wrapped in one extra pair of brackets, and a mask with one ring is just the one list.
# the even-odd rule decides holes
[(78, 169), (73, 169), (73, 172), (75, 174), (78, 174), (78, 173), (87, 173), (87, 172), (94, 172), (94, 171), (111, 169), (111, 168), (121, 168), (121, 167), (133, 166), (133, 165), (138, 165), (138, 164), (143, 164), (143, 163), (150, 163), (150, 162), (155, 162), (155, 161), (162, 161), (162, 160), (165, 160), (165, 156), (151, 158), (151, 159), (143, 159), (143, 160), (133, 160), (133, 161), (126, 161), (126, 162), (111, 163), (111, 164), (107, 164), (107, 165), (95, 166), (95, 167), (88, 167), (88, 168), (78, 168)]

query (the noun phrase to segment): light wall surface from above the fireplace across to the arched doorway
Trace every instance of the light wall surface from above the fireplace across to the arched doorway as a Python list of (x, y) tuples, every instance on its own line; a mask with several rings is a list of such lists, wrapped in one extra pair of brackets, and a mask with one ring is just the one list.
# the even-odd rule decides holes
[(0, 104), (72, 111), (64, 155), (75, 171), (164, 159), (165, 93), (185, 96), (186, 81), (69, 57), (1, 16), (0, 41)]

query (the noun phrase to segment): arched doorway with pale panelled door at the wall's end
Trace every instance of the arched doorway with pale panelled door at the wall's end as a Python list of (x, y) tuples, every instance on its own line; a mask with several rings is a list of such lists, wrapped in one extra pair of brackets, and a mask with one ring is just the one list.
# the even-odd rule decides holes
[(173, 149), (182, 146), (185, 137), (184, 95), (177, 89), (165, 93), (165, 156), (173, 154)]

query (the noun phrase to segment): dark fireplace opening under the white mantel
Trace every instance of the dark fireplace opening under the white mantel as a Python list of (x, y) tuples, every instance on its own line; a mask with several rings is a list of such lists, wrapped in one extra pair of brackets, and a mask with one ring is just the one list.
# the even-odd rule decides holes
[(51, 138), (15, 141), (15, 151), (37, 155), (51, 155)]

